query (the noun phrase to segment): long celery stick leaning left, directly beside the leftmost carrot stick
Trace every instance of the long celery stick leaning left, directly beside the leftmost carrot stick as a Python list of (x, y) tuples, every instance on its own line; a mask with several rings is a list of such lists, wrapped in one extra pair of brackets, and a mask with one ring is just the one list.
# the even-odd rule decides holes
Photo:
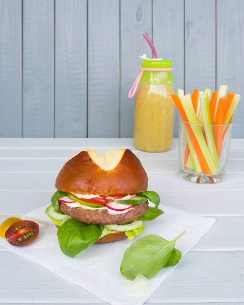
[(187, 95), (183, 96), (180, 100), (181, 100), (182, 106), (184, 108), (184, 111), (186, 113), (186, 116), (187, 116), (189, 122), (193, 123), (193, 124), (191, 124), (191, 128), (197, 138), (197, 141), (202, 150), (204, 159), (205, 159), (211, 173), (215, 174), (218, 172), (218, 169), (215, 166), (215, 163), (212, 159), (209, 148), (207, 146), (207, 143), (206, 143), (203, 133), (201, 131), (201, 128), (198, 125), (199, 123), (198, 123), (198, 119), (197, 119), (196, 113), (193, 108), (191, 95), (187, 94)]

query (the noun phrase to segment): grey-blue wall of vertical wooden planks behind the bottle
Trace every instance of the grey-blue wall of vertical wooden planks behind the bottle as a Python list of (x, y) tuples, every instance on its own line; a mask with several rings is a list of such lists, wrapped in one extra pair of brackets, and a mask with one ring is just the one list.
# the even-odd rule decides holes
[[(243, 16), (244, 0), (0, 0), (0, 137), (132, 137), (144, 32), (175, 89), (244, 95)], [(243, 138), (243, 98), (234, 123)]]

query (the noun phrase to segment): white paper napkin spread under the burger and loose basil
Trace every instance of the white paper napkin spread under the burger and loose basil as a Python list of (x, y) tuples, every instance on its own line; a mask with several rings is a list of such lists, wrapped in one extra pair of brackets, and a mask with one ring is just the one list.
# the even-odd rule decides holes
[[(87, 289), (112, 305), (142, 305), (175, 268), (163, 268), (159, 271), (150, 280), (149, 292), (146, 295), (128, 294), (122, 285), (126, 279), (120, 273), (120, 264), (124, 251), (132, 241), (126, 238), (93, 245), (75, 258), (69, 258), (59, 248), (57, 228), (45, 215), (45, 208), (46, 206), (26, 214), (47, 222), (46, 226), (40, 225), (39, 236), (33, 243), (25, 247), (14, 247), (1, 238), (2, 245), (67, 281)], [(185, 235), (176, 242), (176, 248), (182, 252), (182, 256), (196, 245), (215, 222), (213, 218), (196, 216), (165, 205), (160, 205), (160, 208), (165, 214), (154, 221), (144, 222), (145, 232), (135, 239), (157, 234), (171, 240), (185, 230)]]

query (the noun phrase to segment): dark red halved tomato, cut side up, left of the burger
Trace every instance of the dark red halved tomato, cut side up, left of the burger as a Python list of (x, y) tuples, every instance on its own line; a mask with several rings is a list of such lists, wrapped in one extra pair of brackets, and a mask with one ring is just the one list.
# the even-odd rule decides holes
[(37, 238), (39, 225), (34, 221), (21, 220), (12, 224), (5, 233), (5, 238), (11, 245), (26, 246)]

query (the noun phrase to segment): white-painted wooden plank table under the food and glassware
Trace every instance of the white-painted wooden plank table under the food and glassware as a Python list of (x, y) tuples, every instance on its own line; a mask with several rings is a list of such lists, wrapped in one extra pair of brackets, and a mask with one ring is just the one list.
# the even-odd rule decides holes
[[(222, 182), (194, 185), (177, 175), (177, 140), (167, 153), (149, 154), (135, 150), (131, 139), (0, 139), (1, 214), (23, 214), (49, 203), (58, 171), (83, 148), (130, 148), (148, 173), (149, 189), (158, 192), (164, 204), (217, 219), (148, 304), (244, 304), (244, 140), (232, 140)], [(20, 303), (104, 304), (0, 248), (0, 304)]]

